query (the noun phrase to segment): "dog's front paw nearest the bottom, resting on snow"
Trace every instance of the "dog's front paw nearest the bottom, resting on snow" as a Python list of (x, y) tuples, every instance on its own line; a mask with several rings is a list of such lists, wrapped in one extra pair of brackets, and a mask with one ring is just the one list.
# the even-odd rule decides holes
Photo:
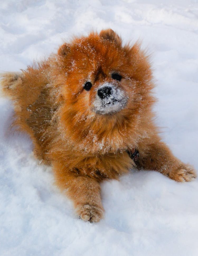
[(78, 205), (76, 210), (80, 219), (89, 222), (98, 222), (102, 218), (104, 212), (103, 208), (89, 204)]

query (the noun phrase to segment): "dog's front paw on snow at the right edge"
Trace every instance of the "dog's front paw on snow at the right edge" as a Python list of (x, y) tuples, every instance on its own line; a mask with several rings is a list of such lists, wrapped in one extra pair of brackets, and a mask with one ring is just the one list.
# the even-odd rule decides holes
[(178, 182), (185, 182), (195, 179), (197, 175), (191, 166), (183, 165), (169, 173), (169, 177)]

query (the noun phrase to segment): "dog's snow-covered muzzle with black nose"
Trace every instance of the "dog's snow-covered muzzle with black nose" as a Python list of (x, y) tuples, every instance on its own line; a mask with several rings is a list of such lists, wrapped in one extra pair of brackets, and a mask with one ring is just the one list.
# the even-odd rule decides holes
[(98, 114), (112, 114), (126, 106), (127, 97), (124, 92), (110, 83), (105, 83), (98, 88), (93, 102), (93, 111)]

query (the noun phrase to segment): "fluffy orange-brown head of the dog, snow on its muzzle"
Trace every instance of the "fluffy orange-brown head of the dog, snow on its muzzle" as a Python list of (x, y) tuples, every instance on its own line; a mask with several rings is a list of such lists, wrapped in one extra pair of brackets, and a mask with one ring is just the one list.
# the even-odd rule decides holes
[(126, 128), (148, 105), (152, 75), (138, 44), (122, 47), (109, 29), (64, 44), (58, 54), (62, 119), (73, 132), (105, 136), (105, 131)]

